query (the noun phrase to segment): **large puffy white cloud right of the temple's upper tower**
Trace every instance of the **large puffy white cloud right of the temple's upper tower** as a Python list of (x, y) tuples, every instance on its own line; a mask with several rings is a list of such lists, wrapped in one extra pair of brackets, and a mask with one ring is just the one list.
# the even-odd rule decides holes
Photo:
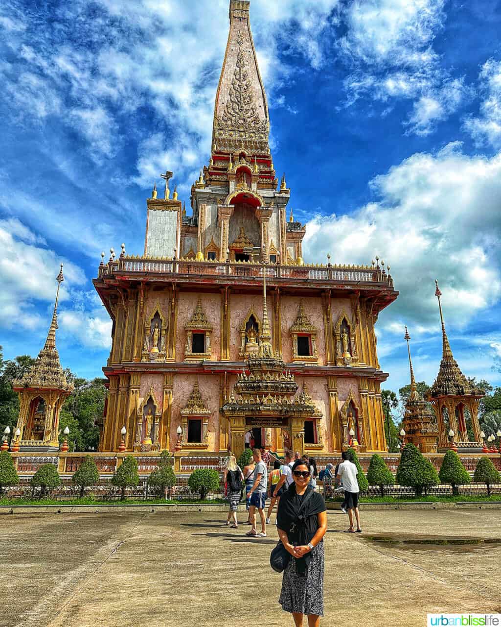
[(335, 263), (366, 264), (379, 254), (390, 263), (400, 297), (381, 314), (389, 332), (404, 324), (436, 328), (435, 278), (451, 325), (497, 302), (501, 154), (469, 157), (450, 144), (412, 155), (371, 186), (378, 202), (309, 221), (305, 258), (323, 262), (331, 253)]

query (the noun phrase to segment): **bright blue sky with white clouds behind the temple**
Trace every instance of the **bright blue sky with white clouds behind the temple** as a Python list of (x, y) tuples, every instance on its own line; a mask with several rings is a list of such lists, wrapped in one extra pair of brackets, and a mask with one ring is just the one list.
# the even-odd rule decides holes
[[(145, 198), (180, 198), (210, 153), (228, 0), (6, 0), (0, 8), (0, 344), (36, 355), (65, 263), (58, 347), (101, 372), (110, 321), (101, 250), (141, 253)], [(386, 387), (438, 371), (433, 280), (468, 376), (501, 383), (501, 0), (251, 1), (307, 261), (391, 265)]]

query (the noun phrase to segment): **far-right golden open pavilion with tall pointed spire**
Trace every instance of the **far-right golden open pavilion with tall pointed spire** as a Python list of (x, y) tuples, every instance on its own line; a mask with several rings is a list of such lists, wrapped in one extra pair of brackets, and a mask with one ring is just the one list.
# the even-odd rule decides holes
[(470, 384), (460, 371), (452, 355), (445, 324), (443, 322), (442, 292), (435, 281), (435, 296), (438, 298), (440, 321), (442, 322), (442, 361), (435, 382), (431, 386), (428, 400), (438, 421), (438, 451), (454, 447), (461, 453), (482, 450), (478, 403), (484, 391)]

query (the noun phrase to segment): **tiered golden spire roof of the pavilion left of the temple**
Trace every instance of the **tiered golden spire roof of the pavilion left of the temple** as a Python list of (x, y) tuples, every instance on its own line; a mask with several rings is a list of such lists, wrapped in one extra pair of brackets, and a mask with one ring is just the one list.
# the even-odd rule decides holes
[(69, 383), (66, 379), (65, 371), (61, 367), (59, 362), (59, 353), (56, 349), (56, 329), (58, 329), (58, 300), (59, 300), (59, 287), (65, 280), (63, 277), (63, 264), (61, 263), (61, 269), (59, 270), (58, 277), (58, 290), (56, 292), (56, 301), (54, 303), (54, 312), (52, 315), (49, 332), (43, 349), (39, 352), (36, 361), (33, 366), (24, 374), (21, 379), (13, 381), (14, 389), (22, 387), (30, 388), (49, 388), (61, 391), (73, 391), (73, 384)]

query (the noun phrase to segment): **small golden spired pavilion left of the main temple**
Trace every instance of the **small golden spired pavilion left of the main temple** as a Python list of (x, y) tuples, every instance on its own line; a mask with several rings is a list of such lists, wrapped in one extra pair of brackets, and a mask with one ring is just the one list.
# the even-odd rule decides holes
[(62, 263), (56, 280), (56, 302), (45, 345), (23, 378), (13, 382), (13, 389), (18, 393), (21, 404), (16, 429), (20, 433), (14, 436), (11, 445), (13, 452), (51, 453), (59, 450), (59, 414), (66, 398), (73, 391), (73, 385), (66, 381), (56, 349), (59, 287), (64, 280)]

